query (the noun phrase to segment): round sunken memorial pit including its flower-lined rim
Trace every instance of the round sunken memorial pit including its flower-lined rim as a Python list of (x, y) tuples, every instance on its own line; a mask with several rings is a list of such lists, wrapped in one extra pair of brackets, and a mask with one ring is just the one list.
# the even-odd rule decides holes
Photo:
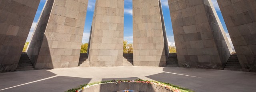
[(66, 92), (194, 92), (170, 83), (148, 80), (108, 80), (81, 85)]

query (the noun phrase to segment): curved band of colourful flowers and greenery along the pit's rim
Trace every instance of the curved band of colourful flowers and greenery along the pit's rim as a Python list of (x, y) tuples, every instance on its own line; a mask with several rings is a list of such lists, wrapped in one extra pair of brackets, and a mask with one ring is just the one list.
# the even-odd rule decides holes
[(154, 80), (108, 80), (108, 81), (102, 81), (102, 82), (94, 82), (90, 84), (80, 85), (78, 88), (72, 88), (67, 90), (66, 92), (81, 92), (85, 88), (89, 88), (91, 86), (99, 85), (99, 84), (106, 84), (106, 83), (121, 83), (121, 82), (135, 82), (135, 83), (147, 83), (147, 84), (154, 84), (155, 86), (161, 86), (163, 88), (167, 88), (168, 90), (171, 90), (172, 92), (194, 92), (193, 90), (189, 90), (187, 88), (182, 88), (180, 86), (176, 86), (173, 84), (165, 83), (165, 82), (158, 82)]

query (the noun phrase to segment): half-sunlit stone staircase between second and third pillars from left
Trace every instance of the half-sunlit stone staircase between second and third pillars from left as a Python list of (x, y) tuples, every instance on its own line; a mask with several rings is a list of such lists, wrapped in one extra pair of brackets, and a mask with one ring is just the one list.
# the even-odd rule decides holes
[(78, 67), (89, 67), (89, 66), (90, 66), (90, 63), (88, 61), (87, 53), (80, 53)]

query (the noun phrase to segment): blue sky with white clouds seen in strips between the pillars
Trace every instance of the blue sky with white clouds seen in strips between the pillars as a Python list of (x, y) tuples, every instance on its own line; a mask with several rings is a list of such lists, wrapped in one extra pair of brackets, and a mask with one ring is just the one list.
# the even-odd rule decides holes
[[(30, 29), (30, 33), (28, 35), (27, 41), (30, 41), (30, 38), (32, 36), (32, 33), (34, 31), (34, 28), (36, 26), (36, 23), (38, 21), (40, 13), (42, 12), (45, 2), (46, 2), (46, 0), (41, 0), (41, 2), (39, 4), (39, 7), (36, 12), (36, 16), (34, 18), (32, 27)], [(89, 2), (88, 2), (88, 9), (87, 9), (86, 21), (85, 21), (85, 25), (84, 25), (84, 34), (83, 34), (82, 43), (88, 43), (88, 40), (89, 40), (90, 28), (92, 25), (92, 16), (93, 16), (93, 12), (94, 12), (95, 2), (96, 2), (96, 0), (89, 0)], [(166, 33), (167, 33), (167, 37), (168, 37), (168, 44), (175, 46), (168, 1), (161, 0), (161, 2), (162, 2), (163, 14), (164, 14), (164, 22), (165, 22), (165, 26), (166, 26)], [(212, 0), (212, 2), (214, 4), (214, 8), (220, 18), (220, 21), (224, 27), (224, 30), (226, 31), (226, 34), (230, 41), (230, 44), (232, 45), (232, 42), (230, 40), (230, 36), (228, 34), (225, 22), (223, 20), (222, 14), (220, 12), (218, 3), (216, 2), (216, 0)], [(132, 0), (124, 0), (124, 40), (127, 40), (128, 43), (132, 43)], [(232, 47), (233, 47), (233, 45), (232, 45)]]

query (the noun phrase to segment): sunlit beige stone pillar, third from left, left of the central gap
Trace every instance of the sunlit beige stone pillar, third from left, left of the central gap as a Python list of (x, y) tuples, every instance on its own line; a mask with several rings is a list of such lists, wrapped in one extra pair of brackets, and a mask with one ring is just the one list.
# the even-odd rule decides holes
[(124, 0), (96, 0), (90, 36), (91, 67), (122, 66)]

